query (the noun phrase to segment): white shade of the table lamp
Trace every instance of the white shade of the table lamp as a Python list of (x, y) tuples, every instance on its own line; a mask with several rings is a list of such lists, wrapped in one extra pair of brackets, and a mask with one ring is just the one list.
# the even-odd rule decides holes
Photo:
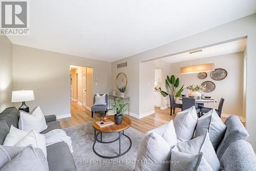
[(34, 99), (33, 90), (12, 91), (12, 102), (31, 101)]

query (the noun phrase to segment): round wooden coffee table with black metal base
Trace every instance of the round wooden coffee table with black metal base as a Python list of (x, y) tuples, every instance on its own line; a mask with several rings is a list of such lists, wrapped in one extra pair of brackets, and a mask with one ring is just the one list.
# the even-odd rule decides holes
[[(108, 116), (110, 118), (110, 120), (112, 120), (113, 122), (115, 122), (115, 119), (114, 119), (114, 116)], [(120, 156), (123, 156), (124, 154), (126, 154), (127, 152), (130, 151), (131, 147), (132, 147), (132, 140), (130, 139), (130, 137), (128, 137), (127, 135), (124, 134), (124, 130), (128, 129), (130, 126), (131, 126), (131, 119), (129, 119), (128, 117), (126, 116), (123, 116), (123, 119), (122, 119), (122, 123), (117, 125), (117, 124), (112, 124), (112, 125), (109, 125), (109, 126), (104, 126), (102, 128), (100, 128), (96, 122), (99, 121), (98, 120), (95, 120), (93, 122), (93, 128), (94, 128), (94, 143), (93, 143), (93, 152), (99, 156), (99, 157), (102, 157), (102, 158), (106, 158), (106, 159), (113, 159), (113, 158), (117, 158), (117, 157), (120, 157)], [(96, 131), (98, 132), (96, 134)], [(119, 137), (113, 141), (102, 141), (102, 133), (118, 133), (119, 134)], [(98, 135), (100, 134), (100, 140), (97, 138)], [(125, 136), (129, 139), (130, 141), (130, 146), (129, 148), (121, 153), (121, 136)], [(112, 143), (112, 142), (115, 142), (119, 140), (119, 155), (117, 156), (102, 156), (100, 154), (98, 154), (96, 151), (95, 151), (95, 144), (96, 144), (96, 141), (100, 142), (100, 143)]]

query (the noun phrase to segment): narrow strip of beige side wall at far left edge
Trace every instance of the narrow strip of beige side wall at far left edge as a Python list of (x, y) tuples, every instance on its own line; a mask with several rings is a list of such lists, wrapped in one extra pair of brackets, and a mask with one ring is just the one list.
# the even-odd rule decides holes
[(12, 106), (12, 44), (0, 35), (0, 112)]

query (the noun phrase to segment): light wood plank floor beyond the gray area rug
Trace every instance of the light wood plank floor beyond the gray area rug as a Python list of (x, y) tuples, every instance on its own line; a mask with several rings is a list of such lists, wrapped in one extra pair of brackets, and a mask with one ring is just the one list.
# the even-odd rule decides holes
[[(77, 104), (77, 102), (71, 101), (71, 117), (58, 119), (62, 129), (86, 122), (91, 122), (94, 119), (98, 119), (100, 114), (102, 113), (94, 113), (93, 118), (91, 117), (91, 111), (87, 110), (83, 106)], [(129, 115), (128, 116), (132, 120), (132, 127), (142, 133), (153, 130), (156, 127), (168, 123), (170, 120), (174, 120), (177, 112), (180, 112), (180, 109), (175, 110), (175, 114), (170, 116), (170, 108), (165, 110), (160, 110), (159, 108), (155, 108), (155, 114), (146, 116), (144, 118), (138, 119)], [(226, 118), (222, 117), (222, 121), (225, 121)], [(243, 123), (245, 124), (245, 123)]]

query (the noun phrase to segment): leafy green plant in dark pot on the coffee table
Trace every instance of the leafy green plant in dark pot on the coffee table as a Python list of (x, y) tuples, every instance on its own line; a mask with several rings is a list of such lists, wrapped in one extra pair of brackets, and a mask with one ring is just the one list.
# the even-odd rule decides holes
[(113, 108), (112, 110), (116, 112), (114, 115), (115, 117), (115, 124), (121, 124), (124, 113), (128, 110), (127, 105), (129, 102), (121, 102), (119, 96), (113, 101)]

